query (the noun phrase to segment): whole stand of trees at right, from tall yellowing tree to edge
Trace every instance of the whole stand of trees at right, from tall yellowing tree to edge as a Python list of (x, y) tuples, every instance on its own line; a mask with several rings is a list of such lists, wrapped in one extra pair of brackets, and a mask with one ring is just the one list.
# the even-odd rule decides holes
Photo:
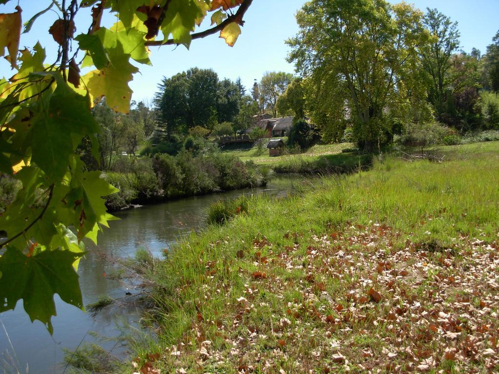
[(348, 132), (375, 149), (436, 121), (460, 133), (499, 128), (498, 101), (487, 94), (498, 91), (499, 32), (482, 56), (460, 50), (457, 23), (437, 9), (322, 0), (296, 19), (288, 60), (323, 139)]

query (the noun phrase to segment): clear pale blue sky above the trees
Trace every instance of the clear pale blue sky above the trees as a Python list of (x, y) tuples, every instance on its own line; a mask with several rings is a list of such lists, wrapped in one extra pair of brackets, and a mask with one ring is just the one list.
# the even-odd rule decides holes
[[(293, 66), (286, 62), (288, 47), (284, 40), (296, 34), (298, 28), (294, 19), (296, 10), (304, 0), (253, 0), (245, 15), (245, 26), (234, 47), (229, 47), (218, 35), (194, 40), (190, 50), (179, 46), (151, 48), (153, 66), (140, 65), (141, 73), (136, 74), (130, 87), (134, 91), (133, 99), (151, 98), (157, 90), (157, 84), (163, 76), (171, 76), (191, 67), (212, 68), (220, 78), (235, 80), (241, 76), (243, 83), (250, 87), (253, 79), (260, 79), (265, 71), (293, 72)], [(396, 3), (398, 0), (389, 0)], [(486, 46), (499, 29), (499, 0), (416, 0), (407, 1), (416, 7), (425, 9), (437, 7), (441, 12), (458, 21), (461, 31), (461, 46), (470, 52), (476, 47), (485, 53)], [(23, 9), (23, 21), (41, 10), (48, 1), (19, 0)], [(16, 1), (0, 5), (0, 12), (13, 10)], [(56, 44), (48, 35), (47, 29), (56, 19), (49, 11), (34, 24), (30, 35), (22, 35), (22, 46), (33, 46), (38, 38), (46, 46), (48, 56), (54, 56)], [(88, 14), (76, 19), (80, 26), (77, 32), (86, 32)], [(104, 25), (110, 25), (107, 17)], [(203, 26), (207, 26), (206, 24)], [(33, 32), (34, 31), (34, 32)], [(10, 77), (12, 71), (6, 61), (0, 61), (0, 76)]]

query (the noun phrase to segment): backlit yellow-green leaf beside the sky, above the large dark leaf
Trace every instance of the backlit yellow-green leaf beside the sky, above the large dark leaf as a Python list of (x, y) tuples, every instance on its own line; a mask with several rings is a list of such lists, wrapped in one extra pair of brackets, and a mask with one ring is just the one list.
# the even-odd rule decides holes
[(86, 74), (83, 80), (93, 97), (106, 97), (107, 105), (117, 112), (128, 113), (132, 90), (128, 82), (133, 79), (133, 73), (139, 71), (130, 62), (130, 55), (123, 53), (123, 46), (117, 43), (115, 49), (108, 49), (111, 63), (101, 70)]

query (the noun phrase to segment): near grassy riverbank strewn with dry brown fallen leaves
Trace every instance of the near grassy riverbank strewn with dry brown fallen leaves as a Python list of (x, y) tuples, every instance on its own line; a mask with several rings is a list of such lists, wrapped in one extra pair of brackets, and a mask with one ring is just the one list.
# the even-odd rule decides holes
[(442, 152), (255, 197), (182, 241), (148, 270), (135, 371), (499, 371), (499, 142)]

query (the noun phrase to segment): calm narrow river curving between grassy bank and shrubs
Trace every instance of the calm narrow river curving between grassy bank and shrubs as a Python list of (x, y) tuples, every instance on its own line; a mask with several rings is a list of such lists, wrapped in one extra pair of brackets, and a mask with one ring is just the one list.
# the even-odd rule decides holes
[[(241, 194), (267, 193), (272, 196), (286, 194), (300, 177), (278, 176), (266, 187), (246, 188), (229, 192), (184, 198), (161, 204), (115, 212), (120, 220), (110, 222), (110, 229), (99, 233), (97, 246), (87, 244), (89, 253), (80, 261), (78, 274), (87, 305), (101, 295), (122, 298), (129, 283), (110, 279), (114, 266), (109, 259), (126, 258), (137, 248), (146, 248), (161, 257), (179, 238), (205, 226), (205, 209), (220, 198), (234, 198)], [(53, 374), (63, 373), (63, 348), (74, 350), (81, 342), (96, 342), (113, 355), (123, 355), (125, 349), (115, 341), (102, 341), (103, 337), (119, 334), (117, 323), (123, 319), (136, 324), (140, 313), (133, 307), (104, 308), (93, 317), (80, 309), (54, 297), (57, 316), (52, 318), (54, 328), (50, 336), (44, 325), (31, 323), (22, 308), (22, 301), (15, 310), (0, 313), (0, 373)]]

